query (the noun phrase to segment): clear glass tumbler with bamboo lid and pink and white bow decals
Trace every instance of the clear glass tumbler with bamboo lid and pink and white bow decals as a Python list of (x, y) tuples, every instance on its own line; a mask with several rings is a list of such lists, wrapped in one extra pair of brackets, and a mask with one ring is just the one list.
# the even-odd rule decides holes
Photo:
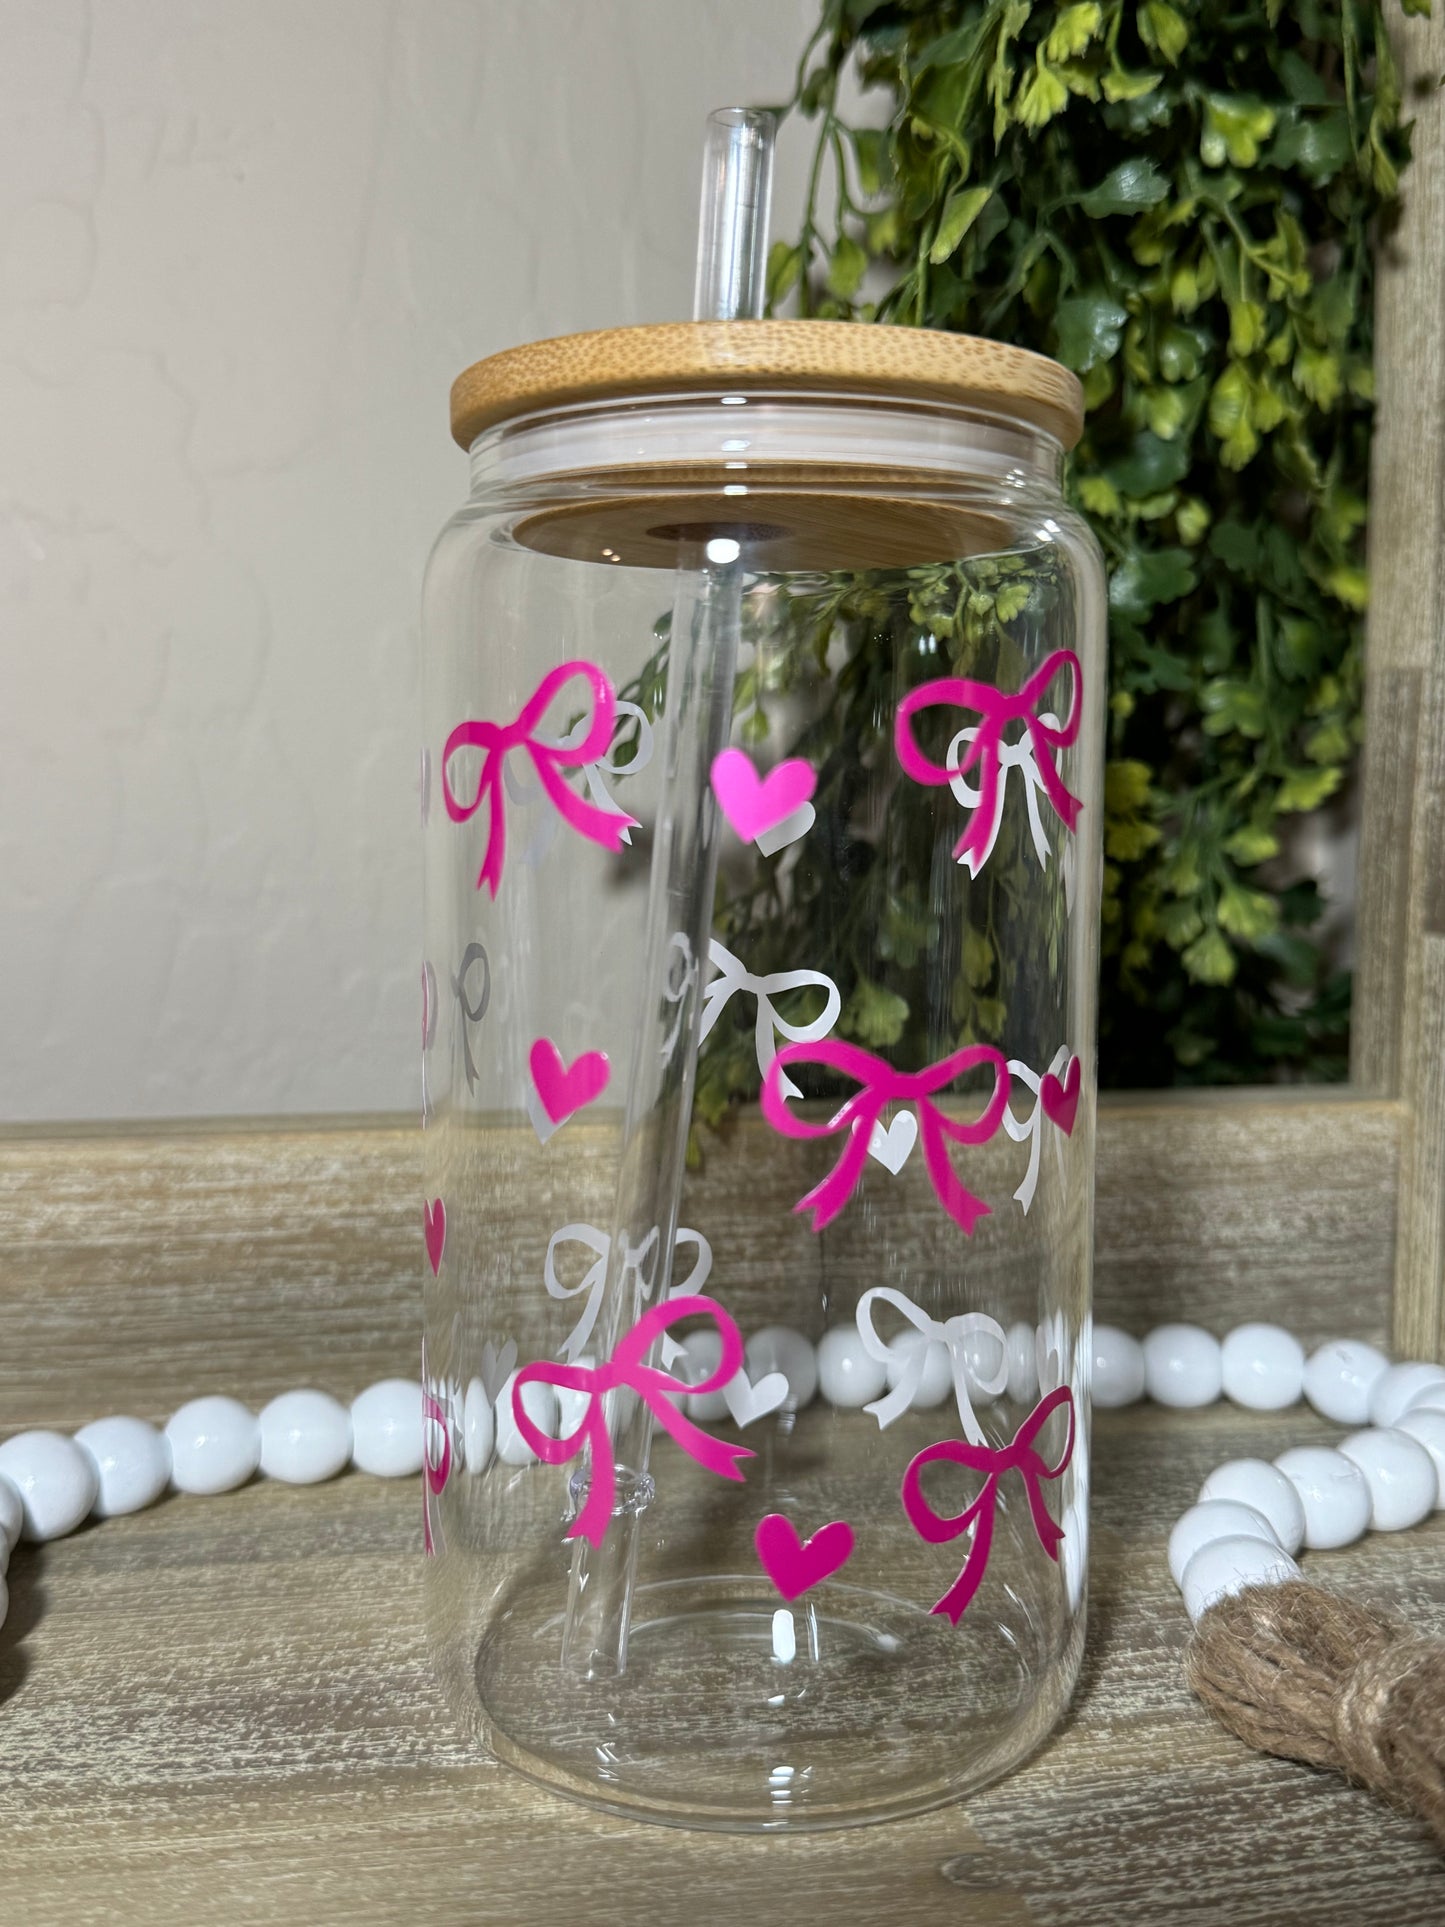
[(453, 391), (424, 607), (451, 1698), (620, 1813), (880, 1819), (1083, 1648), (1104, 582), (1077, 383), (717, 322)]

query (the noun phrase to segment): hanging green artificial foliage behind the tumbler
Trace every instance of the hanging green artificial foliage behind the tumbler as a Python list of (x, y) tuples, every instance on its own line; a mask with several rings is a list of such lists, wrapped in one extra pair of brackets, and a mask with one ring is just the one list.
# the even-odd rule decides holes
[[(886, 127), (846, 118), (850, 67), (890, 100)], [(1289, 846), (1360, 742), (1372, 251), (1408, 158), (1379, 8), (825, 0), (794, 108), (817, 150), (801, 231), (773, 249), (775, 303), (994, 335), (1083, 380), (1069, 489), (1110, 567), (1106, 1079), (1343, 1075), (1349, 983)], [(1027, 594), (996, 559), (913, 572), (902, 609), (865, 576), (794, 595), (796, 661), (775, 651), (773, 684), (813, 663), (800, 750), (844, 869), (848, 771), (871, 767), (882, 713), (869, 692), (886, 709), (921, 626), (954, 661), (990, 632), (1006, 647)], [(828, 890), (724, 886), (719, 927), (771, 929), (780, 962), (827, 956), (863, 1041), (911, 1021), (998, 1035), (1002, 927), (963, 942), (948, 1010), (909, 1006), (929, 859), (921, 832), (917, 875), (854, 879), (854, 913), (894, 944), (890, 987), (850, 962)], [(699, 1110), (749, 1081), (746, 1039), (719, 1027)]]

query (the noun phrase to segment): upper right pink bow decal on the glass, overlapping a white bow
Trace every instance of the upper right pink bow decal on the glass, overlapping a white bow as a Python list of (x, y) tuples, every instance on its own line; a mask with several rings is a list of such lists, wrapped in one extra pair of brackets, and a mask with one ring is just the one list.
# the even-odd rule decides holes
[[(1069, 671), (1069, 713), (1064, 723), (1044, 721), (1037, 711), (1044, 692), (1060, 671)], [(931, 763), (913, 740), (913, 717), (919, 709), (933, 709), (948, 703), (956, 709), (977, 709), (979, 723), (973, 742), (967, 746), (958, 769)], [(1006, 696), (992, 682), (975, 682), (973, 676), (940, 676), (925, 682), (898, 705), (894, 717), (894, 746), (898, 761), (915, 782), (942, 788), (977, 771), (979, 804), (971, 811), (963, 834), (954, 844), (954, 856), (967, 861), (969, 875), (977, 877), (988, 859), (988, 852), (998, 836), (998, 823), (1004, 813), (1004, 769), (1000, 753), (1004, 750), (1004, 730), (1010, 723), (1023, 723), (1033, 765), (1044, 796), (1058, 811), (1065, 829), (1079, 821), (1083, 802), (1064, 786), (1054, 761), (1056, 750), (1067, 750), (1079, 736), (1079, 717), (1083, 711), (1083, 669), (1073, 649), (1054, 649), (1029, 676), (1017, 696)]]

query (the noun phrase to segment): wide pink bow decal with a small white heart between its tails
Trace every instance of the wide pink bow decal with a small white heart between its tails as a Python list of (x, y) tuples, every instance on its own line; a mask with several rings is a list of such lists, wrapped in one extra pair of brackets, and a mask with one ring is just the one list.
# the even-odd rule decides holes
[[(823, 1064), (828, 1069), (842, 1071), (844, 1077), (857, 1079), (863, 1089), (857, 1096), (850, 1096), (842, 1110), (834, 1112), (827, 1123), (803, 1123), (801, 1118), (792, 1116), (784, 1096), (786, 1071), (792, 1064)], [(938, 1106), (931, 1102), (933, 1095), (954, 1083), (963, 1071), (973, 1069), (975, 1064), (990, 1064), (994, 1071), (992, 1096), (985, 1104), (983, 1116), (973, 1123), (944, 1118)], [(931, 1064), (925, 1071), (896, 1071), (892, 1064), (875, 1058), (869, 1050), (859, 1050), (857, 1044), (827, 1037), (817, 1044), (784, 1044), (767, 1068), (761, 1106), (767, 1122), (784, 1137), (832, 1137), (836, 1131), (848, 1131), (848, 1143), (834, 1168), (823, 1183), (813, 1185), (794, 1204), (794, 1210), (813, 1212), (815, 1231), (832, 1224), (854, 1195), (867, 1164), (873, 1125), (888, 1104), (898, 1102), (917, 1106), (923, 1162), (929, 1168), (933, 1189), (938, 1193), (938, 1202), (954, 1224), (961, 1226), (963, 1231), (973, 1231), (977, 1220), (988, 1214), (983, 1199), (977, 1199), (959, 1183), (954, 1166), (948, 1162), (948, 1145), (986, 1145), (998, 1129), (1008, 1108), (1008, 1062), (1004, 1052), (994, 1050), (990, 1044), (967, 1044), (967, 1048), (956, 1050), (950, 1058)]]

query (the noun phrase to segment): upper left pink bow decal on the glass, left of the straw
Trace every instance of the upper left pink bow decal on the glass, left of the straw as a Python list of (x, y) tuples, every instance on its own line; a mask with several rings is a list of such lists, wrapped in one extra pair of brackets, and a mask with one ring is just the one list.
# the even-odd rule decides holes
[[(588, 734), (572, 748), (538, 738), (534, 730), (574, 676), (582, 676), (591, 690), (591, 726)], [(541, 678), (536, 696), (524, 703), (514, 723), (459, 723), (451, 736), (447, 736), (447, 748), (441, 752), (441, 796), (447, 804), (447, 815), (453, 823), (466, 823), (482, 807), (482, 798), (487, 798), (487, 850), (476, 879), (478, 890), (486, 883), (495, 896), (501, 886), (501, 869), (507, 858), (501, 773), (509, 750), (526, 750), (553, 807), (574, 831), (603, 844), (607, 850), (620, 850), (622, 832), (636, 829), (638, 819), (584, 802), (576, 790), (566, 786), (561, 775), (565, 767), (582, 769), (607, 753), (615, 719), (617, 698), (613, 696), (613, 684), (601, 669), (595, 663), (561, 663)], [(451, 788), (447, 765), (457, 750), (486, 750), (476, 796), (470, 804), (460, 804)]]

